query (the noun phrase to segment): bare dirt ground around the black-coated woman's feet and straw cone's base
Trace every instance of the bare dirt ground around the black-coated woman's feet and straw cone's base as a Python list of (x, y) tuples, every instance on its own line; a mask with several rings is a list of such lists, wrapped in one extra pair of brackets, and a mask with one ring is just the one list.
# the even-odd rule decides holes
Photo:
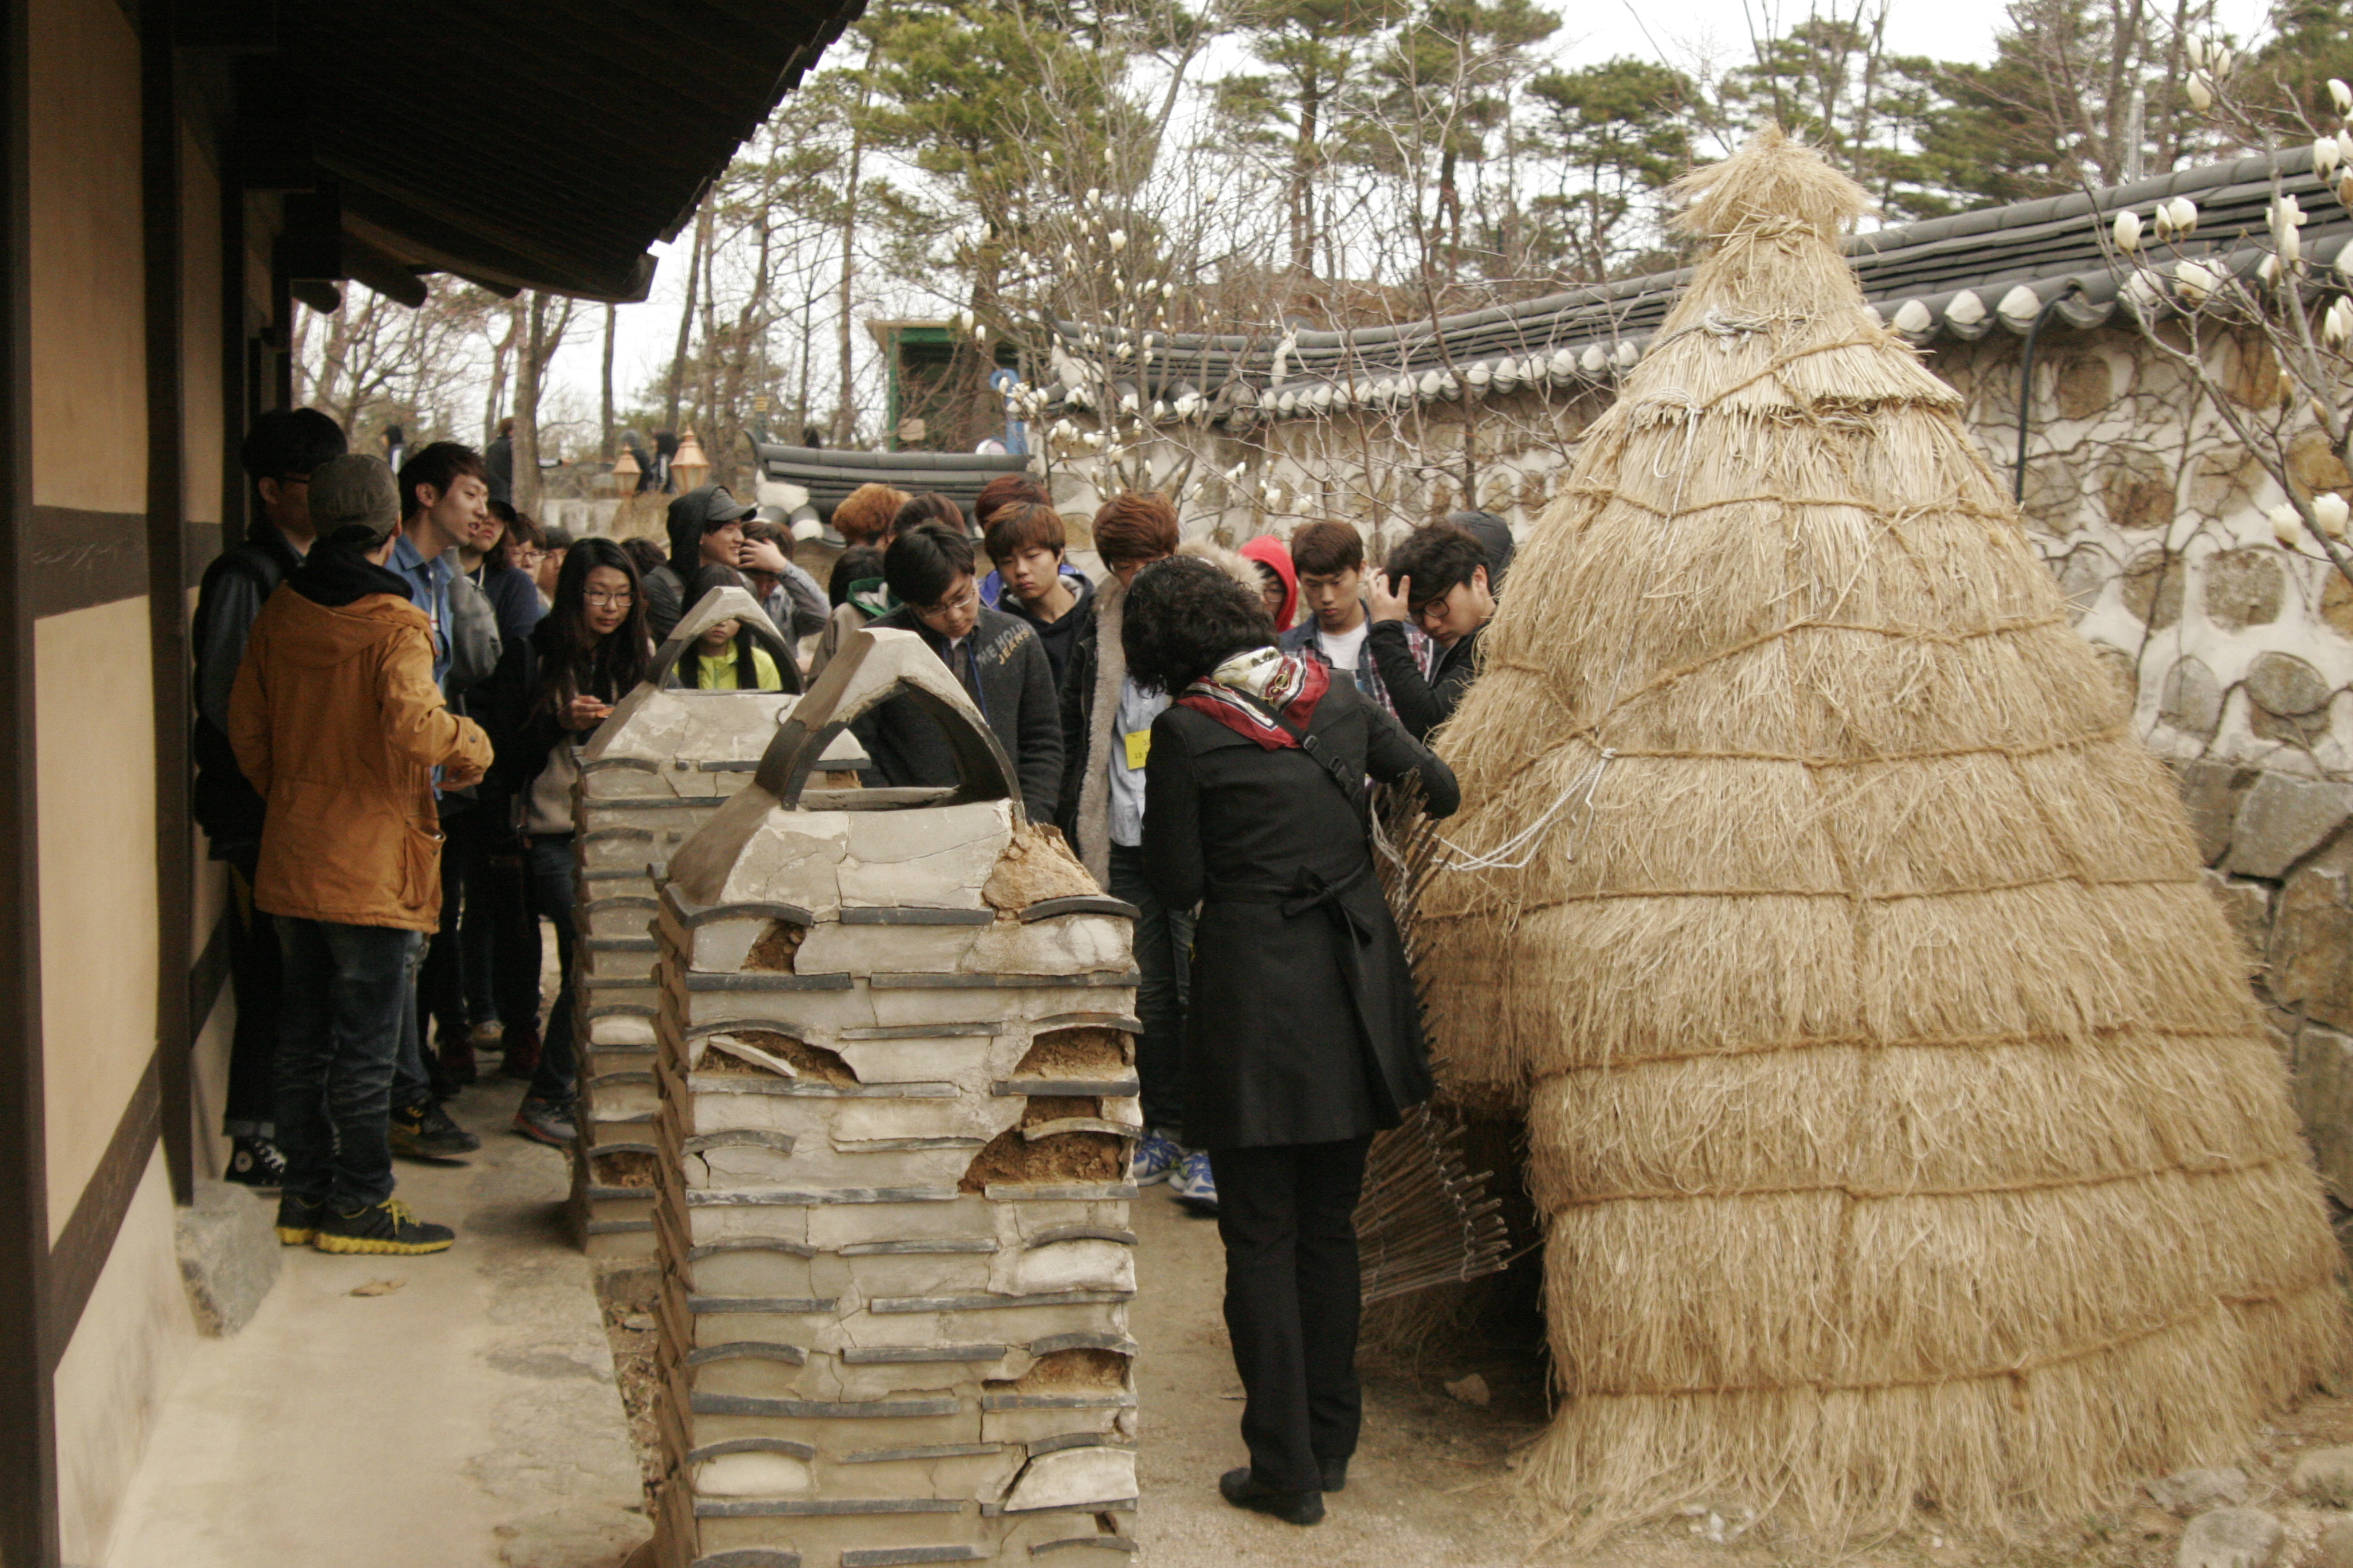
[[(1694, 1516), (1621, 1533), (1595, 1552), (1544, 1547), (1511, 1488), (1513, 1450), (1546, 1420), (1544, 1363), (1532, 1319), (1504, 1314), (1501, 1328), (1431, 1335), (1419, 1354), (1367, 1356), (1365, 1439), (1348, 1490), (1329, 1497), (1329, 1516), (1299, 1530), (1226, 1507), (1219, 1472), (1245, 1462), (1238, 1434), (1240, 1382), (1219, 1309), (1224, 1272), (1217, 1227), (1186, 1215), (1165, 1190), (1134, 1204), (1136, 1302), (1129, 1333), (1141, 1345), (1136, 1394), (1144, 1434), (1144, 1495), (1134, 1535), (1139, 1566), (1228, 1568), (1233, 1563), (1315, 1568), (1800, 1568), (1826, 1561), (1857, 1568), (2172, 1568), (2184, 1519), (2146, 1495), (2115, 1497), (2101, 1514), (2017, 1540), (1972, 1540), (1934, 1519), (1892, 1540), (1828, 1552), (1774, 1530), (1741, 1530), (1739, 1519)], [(1520, 1265), (1527, 1267), (1527, 1265)], [(607, 1276), (607, 1328), (619, 1385), (640, 1446), (652, 1441), (645, 1413), (652, 1319), (631, 1276)], [(1487, 1403), (1447, 1392), (1478, 1373)], [(2304, 1507), (2287, 1495), (2287, 1472), (2306, 1448), (2353, 1443), (2353, 1399), (2320, 1396), (2266, 1429), (2238, 1465), (2249, 1476), (2247, 1502), (2287, 1526), (2280, 1568), (2318, 1561), (2320, 1530), (2344, 1514)], [(1713, 1540), (1722, 1535), (1722, 1540)]]

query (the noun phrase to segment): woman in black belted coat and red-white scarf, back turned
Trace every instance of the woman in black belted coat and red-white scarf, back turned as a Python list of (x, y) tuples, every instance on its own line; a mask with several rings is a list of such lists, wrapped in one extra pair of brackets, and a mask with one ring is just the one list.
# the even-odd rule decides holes
[(1226, 1328), (1249, 1467), (1235, 1507), (1292, 1523), (1348, 1476), (1355, 1201), (1372, 1133), (1428, 1098), (1414, 978), (1372, 867), (1365, 776), (1421, 773), (1431, 816), (1454, 773), (1311, 658), (1275, 651), (1266, 607), (1207, 562), (1127, 590), (1127, 670), (1174, 705), (1153, 719), (1144, 872), (1200, 903), (1186, 1016), (1186, 1143), (1209, 1150), (1226, 1244)]

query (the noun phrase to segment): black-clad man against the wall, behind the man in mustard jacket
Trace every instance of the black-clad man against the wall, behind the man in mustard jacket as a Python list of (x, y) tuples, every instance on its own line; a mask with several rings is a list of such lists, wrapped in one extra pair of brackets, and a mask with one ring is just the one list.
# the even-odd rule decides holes
[(261, 856), (261, 797), (228, 748), (228, 693), (238, 684), (245, 642), (261, 602), (278, 592), (315, 538), (311, 470), (344, 456), (344, 428), (318, 409), (271, 409), (245, 433), (240, 461), (252, 480), (245, 543), (205, 569), (195, 595), (195, 790), (191, 809), (214, 860), (228, 860), (228, 985), (238, 1032), (228, 1044), (228, 1095), (221, 1131), (231, 1138), (233, 1182), (275, 1187), (285, 1161), (271, 1143), (278, 1098), (278, 933), (254, 910), (254, 863)]

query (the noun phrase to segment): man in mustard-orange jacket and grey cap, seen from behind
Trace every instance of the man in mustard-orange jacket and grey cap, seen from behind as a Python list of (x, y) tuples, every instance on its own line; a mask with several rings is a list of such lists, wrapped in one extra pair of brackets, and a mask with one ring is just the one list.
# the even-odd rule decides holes
[(468, 785), (489, 741), (442, 703), (433, 635), (384, 567), (393, 470), (311, 475), (318, 543), (261, 607), (228, 698), (238, 766), (268, 802), (254, 905), (278, 917), (278, 1239), (325, 1253), (438, 1253), (454, 1239), (393, 1197), (388, 1112), (409, 961), (440, 924), (433, 769)]

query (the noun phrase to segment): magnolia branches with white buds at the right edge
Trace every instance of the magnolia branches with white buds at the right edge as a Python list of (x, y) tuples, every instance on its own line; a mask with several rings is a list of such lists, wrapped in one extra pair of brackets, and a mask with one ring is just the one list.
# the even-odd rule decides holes
[[(2200, 115), (2242, 146), (2280, 148), (2271, 160), (2264, 233), (2193, 247), (2198, 205), (2177, 195), (2146, 214), (2118, 212), (2106, 244), (2127, 270), (2122, 292), (2144, 341), (2181, 367), (2285, 496), (2268, 512), (2280, 548), (2325, 559), (2353, 581), (2346, 545), (2353, 505), (2339, 489), (2308, 484), (2294, 463), (2294, 449), (2318, 430), (2337, 463), (2353, 468), (2353, 242), (2320, 266), (2304, 244), (2311, 214), (2287, 188), (2289, 176), (2311, 169), (2329, 200), (2353, 209), (2353, 89), (2327, 82), (2332, 125), (2278, 82), (2252, 80), (2226, 45), (2186, 38), (2181, 56), (2186, 96)], [(2207, 350), (2221, 339), (2235, 339), (2259, 362), (2268, 357), (2273, 407), (2249, 407), (2247, 378), (2233, 388), (2217, 369)]]

